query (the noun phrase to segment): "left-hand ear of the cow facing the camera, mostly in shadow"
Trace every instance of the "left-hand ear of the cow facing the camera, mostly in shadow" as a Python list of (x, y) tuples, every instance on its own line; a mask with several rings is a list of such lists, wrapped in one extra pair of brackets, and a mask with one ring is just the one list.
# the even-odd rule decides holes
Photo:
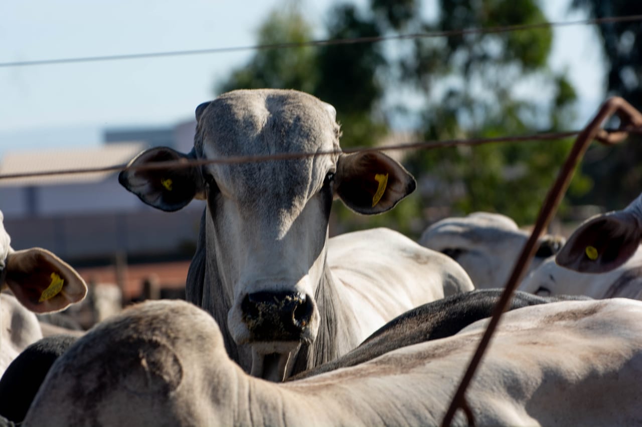
[(162, 169), (135, 169), (135, 167), (160, 162), (187, 163), (195, 158), (193, 151), (189, 155), (184, 155), (168, 147), (150, 148), (129, 162), (127, 169), (118, 175), (118, 182), (147, 205), (173, 212), (186, 206), (195, 197), (205, 198), (205, 186), (200, 167), (188, 165), (168, 166)]

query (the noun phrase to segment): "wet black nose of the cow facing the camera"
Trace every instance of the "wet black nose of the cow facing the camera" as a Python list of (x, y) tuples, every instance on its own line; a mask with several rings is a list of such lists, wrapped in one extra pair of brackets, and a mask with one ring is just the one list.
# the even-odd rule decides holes
[(254, 292), (241, 303), (252, 340), (298, 341), (312, 319), (313, 304), (299, 292)]

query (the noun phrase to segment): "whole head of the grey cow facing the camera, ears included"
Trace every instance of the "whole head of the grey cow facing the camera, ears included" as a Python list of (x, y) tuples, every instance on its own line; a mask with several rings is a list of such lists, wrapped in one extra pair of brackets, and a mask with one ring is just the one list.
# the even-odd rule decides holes
[[(289, 353), (315, 340), (320, 321), (315, 294), (324, 277), (333, 199), (355, 212), (381, 213), (415, 188), (412, 176), (382, 153), (338, 153), (335, 115), (333, 106), (293, 90), (229, 92), (196, 108), (189, 155), (153, 148), (130, 165), (337, 153), (130, 169), (119, 176), (144, 203), (162, 210), (177, 210), (194, 197), (207, 199), (206, 230), (201, 230), (207, 239), (206, 274), (218, 277), (206, 280), (220, 283), (213, 297), (227, 301), (232, 338), (251, 344), (255, 354)], [(256, 360), (255, 374), (263, 369)]]

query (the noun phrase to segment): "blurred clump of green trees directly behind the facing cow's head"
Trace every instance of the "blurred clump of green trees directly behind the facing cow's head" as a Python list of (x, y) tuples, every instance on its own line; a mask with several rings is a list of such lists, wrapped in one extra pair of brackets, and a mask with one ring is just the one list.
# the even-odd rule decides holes
[[(435, 17), (420, 0), (370, 0), (361, 10), (335, 4), (324, 38), (377, 37), (546, 21), (537, 0), (440, 0)], [(288, 3), (259, 29), (258, 44), (313, 40), (300, 6)], [(342, 146), (372, 146), (393, 124), (427, 140), (523, 135), (568, 128), (575, 90), (547, 65), (550, 28), (468, 33), (391, 42), (263, 49), (216, 87), (295, 88), (333, 104)], [(407, 126), (412, 123), (412, 126)], [(410, 235), (426, 221), (476, 210), (499, 212), (518, 223), (534, 221), (572, 140), (488, 144), (416, 151), (404, 165), (418, 190), (377, 217), (338, 210), (340, 231), (386, 225)], [(571, 192), (590, 181), (577, 176)], [(432, 207), (432, 209), (431, 209)]]

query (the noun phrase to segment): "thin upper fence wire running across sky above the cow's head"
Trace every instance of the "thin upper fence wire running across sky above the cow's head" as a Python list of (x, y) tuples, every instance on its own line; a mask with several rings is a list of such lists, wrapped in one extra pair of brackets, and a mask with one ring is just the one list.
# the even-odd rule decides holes
[(183, 51), (166, 51), (166, 52), (151, 52), (151, 53), (132, 53), (132, 54), (117, 54), (117, 55), (104, 55), (104, 56), (82, 56), (78, 58), (55, 58), (48, 60), (32, 60), (32, 61), (14, 61), (14, 62), (0, 62), (0, 68), (4, 67), (28, 67), (33, 65), (53, 65), (63, 63), (78, 63), (78, 62), (102, 62), (102, 61), (119, 61), (119, 60), (132, 60), (143, 58), (160, 58), (166, 56), (187, 56), (187, 55), (200, 55), (200, 54), (215, 54), (215, 53), (230, 53), (239, 51), (259, 51), (268, 49), (291, 49), (295, 47), (309, 47), (309, 46), (336, 46), (346, 44), (362, 44), (362, 43), (377, 43), (387, 40), (410, 40), (415, 38), (435, 38), (435, 37), (455, 37), (469, 34), (498, 34), (510, 33), (513, 31), (525, 31), (528, 29), (562, 27), (562, 26), (575, 26), (575, 25), (591, 25), (591, 24), (607, 24), (614, 22), (634, 22), (642, 21), (642, 15), (629, 15), (629, 16), (613, 16), (593, 19), (582, 19), (579, 21), (559, 21), (559, 22), (538, 22), (535, 24), (513, 24), (506, 26), (494, 26), (487, 28), (465, 28), (465, 29), (447, 29), (444, 31), (431, 31), (429, 33), (412, 33), (388, 36), (372, 36), (372, 37), (355, 37), (355, 38), (334, 38), (327, 40), (309, 40), (307, 42), (290, 42), (290, 43), (275, 43), (263, 44), (254, 46), (236, 46), (236, 47), (213, 47), (211, 49), (193, 49)]

